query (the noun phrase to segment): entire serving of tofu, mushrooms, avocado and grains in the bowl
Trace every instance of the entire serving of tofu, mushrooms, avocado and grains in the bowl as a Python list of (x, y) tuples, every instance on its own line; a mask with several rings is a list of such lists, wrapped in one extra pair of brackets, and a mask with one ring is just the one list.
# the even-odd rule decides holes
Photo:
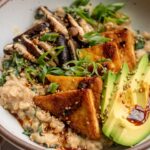
[(150, 34), (123, 3), (75, 0), (4, 47), (0, 104), (48, 148), (133, 146), (150, 134)]

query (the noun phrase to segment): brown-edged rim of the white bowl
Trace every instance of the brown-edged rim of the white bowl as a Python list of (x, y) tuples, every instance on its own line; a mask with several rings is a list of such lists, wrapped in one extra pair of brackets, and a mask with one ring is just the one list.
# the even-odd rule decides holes
[[(0, 0), (0, 8), (4, 6), (9, 0)], [(25, 149), (25, 150), (44, 150), (44, 148), (39, 148), (30, 143), (27, 143), (20, 138), (14, 136), (11, 132), (0, 125), (0, 135), (7, 141), (9, 141), (14, 146)], [(145, 141), (144, 143), (128, 148), (128, 150), (145, 150), (150, 147), (150, 140)]]

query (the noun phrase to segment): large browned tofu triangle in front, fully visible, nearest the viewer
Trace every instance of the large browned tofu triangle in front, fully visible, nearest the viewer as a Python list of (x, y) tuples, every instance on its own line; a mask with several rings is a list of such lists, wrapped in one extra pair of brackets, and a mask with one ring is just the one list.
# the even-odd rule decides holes
[(61, 118), (77, 133), (94, 140), (100, 138), (92, 90), (72, 90), (36, 96), (34, 102), (42, 109)]

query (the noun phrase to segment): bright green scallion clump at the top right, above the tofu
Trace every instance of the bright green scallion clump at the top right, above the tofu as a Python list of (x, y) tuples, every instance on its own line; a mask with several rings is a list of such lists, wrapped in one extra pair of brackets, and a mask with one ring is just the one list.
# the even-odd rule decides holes
[(122, 24), (126, 22), (129, 18), (125, 15), (122, 17), (117, 16), (117, 11), (123, 8), (124, 3), (113, 3), (109, 5), (104, 5), (100, 3), (97, 5), (93, 12), (92, 17), (101, 23), (105, 22), (115, 22), (117, 24)]

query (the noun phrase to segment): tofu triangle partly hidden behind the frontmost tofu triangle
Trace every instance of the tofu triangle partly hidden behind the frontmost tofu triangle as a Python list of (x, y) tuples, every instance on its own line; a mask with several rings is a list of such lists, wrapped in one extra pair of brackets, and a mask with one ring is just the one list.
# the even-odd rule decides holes
[(54, 76), (47, 75), (50, 82), (59, 84), (60, 91), (69, 91), (76, 89), (91, 89), (94, 94), (94, 104), (97, 114), (99, 114), (100, 95), (102, 92), (102, 80), (100, 77), (72, 77), (72, 76)]

